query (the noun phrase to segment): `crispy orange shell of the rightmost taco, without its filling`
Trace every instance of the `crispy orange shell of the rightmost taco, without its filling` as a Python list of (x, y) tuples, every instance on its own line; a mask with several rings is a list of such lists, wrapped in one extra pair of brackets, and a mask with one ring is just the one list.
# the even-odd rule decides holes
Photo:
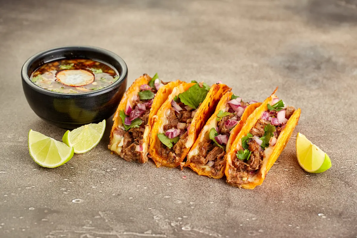
[(277, 91), (278, 88), (275, 89), (275, 91), (272, 93), (270, 97), (268, 97), (264, 102), (259, 106), (246, 120), (244, 123), (243, 127), (241, 128), (240, 132), (238, 133), (236, 139), (232, 143), (232, 146), (229, 150), (229, 152), (226, 154), (226, 168), (225, 168), (225, 174), (227, 177), (227, 183), (236, 186), (236, 187), (242, 187), (246, 189), (254, 189), (256, 186), (261, 185), (266, 177), (266, 174), (268, 173), (269, 169), (272, 167), (276, 159), (280, 156), (280, 153), (284, 150), (287, 142), (289, 141), (289, 138), (295, 128), (295, 126), (298, 123), (301, 109), (298, 108), (295, 110), (295, 112), (292, 114), (292, 116), (289, 118), (289, 120), (286, 123), (285, 128), (280, 132), (279, 137), (277, 138), (277, 141), (274, 146), (266, 148), (264, 151), (265, 157), (263, 158), (263, 162), (261, 167), (258, 170), (258, 173), (248, 179), (248, 183), (245, 184), (237, 184), (236, 183), (236, 177), (238, 176), (236, 173), (236, 168), (233, 166), (233, 159), (236, 157), (236, 153), (238, 150), (242, 149), (242, 137), (246, 136), (248, 132), (255, 126), (256, 122), (260, 119), (262, 113), (264, 111), (267, 111), (267, 104), (272, 104), (272, 101), (275, 96), (275, 92)]

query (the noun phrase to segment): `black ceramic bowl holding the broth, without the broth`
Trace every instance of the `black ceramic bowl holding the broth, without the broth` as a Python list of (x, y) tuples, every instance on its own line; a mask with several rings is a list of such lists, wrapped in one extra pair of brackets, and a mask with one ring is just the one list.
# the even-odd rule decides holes
[[(119, 79), (101, 90), (59, 93), (45, 90), (29, 76), (41, 65), (60, 59), (92, 59), (106, 62), (119, 72)], [(116, 54), (91, 46), (64, 46), (39, 52), (22, 66), (22, 88), (31, 109), (46, 122), (62, 128), (77, 128), (109, 118), (116, 110), (127, 83), (128, 70)]]

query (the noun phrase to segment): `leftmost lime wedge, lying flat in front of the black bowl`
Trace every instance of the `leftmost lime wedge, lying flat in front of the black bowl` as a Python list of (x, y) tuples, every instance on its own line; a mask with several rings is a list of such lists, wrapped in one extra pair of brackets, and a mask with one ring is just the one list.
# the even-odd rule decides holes
[(37, 131), (29, 131), (28, 143), (30, 156), (42, 167), (55, 168), (73, 157), (73, 147)]

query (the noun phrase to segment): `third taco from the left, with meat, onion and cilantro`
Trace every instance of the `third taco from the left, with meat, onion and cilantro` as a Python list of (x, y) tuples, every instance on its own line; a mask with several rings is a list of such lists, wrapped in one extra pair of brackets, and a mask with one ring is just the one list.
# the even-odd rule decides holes
[(222, 178), (226, 167), (224, 158), (231, 142), (247, 117), (260, 105), (256, 101), (243, 102), (232, 92), (223, 95), (188, 152), (185, 166), (199, 175)]

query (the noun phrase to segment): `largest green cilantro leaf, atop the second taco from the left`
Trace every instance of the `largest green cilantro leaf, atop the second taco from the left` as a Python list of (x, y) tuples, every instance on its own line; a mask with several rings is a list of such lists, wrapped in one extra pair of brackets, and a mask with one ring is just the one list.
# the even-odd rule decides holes
[(198, 83), (188, 88), (187, 91), (180, 93), (178, 96), (180, 97), (181, 102), (183, 102), (186, 106), (190, 106), (192, 108), (197, 108), (200, 106), (200, 103), (205, 100), (207, 96), (208, 90), (205, 87), (201, 88)]

